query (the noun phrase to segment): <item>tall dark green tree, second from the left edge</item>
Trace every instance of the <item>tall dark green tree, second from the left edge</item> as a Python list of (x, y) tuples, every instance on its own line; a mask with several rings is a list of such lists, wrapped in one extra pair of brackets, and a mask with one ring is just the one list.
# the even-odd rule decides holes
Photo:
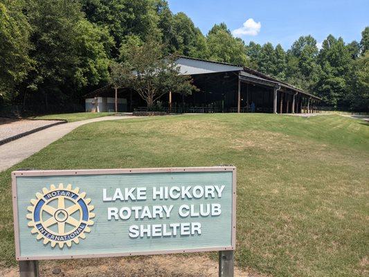
[(35, 70), (28, 75), (26, 87), (44, 96), (46, 109), (51, 99), (48, 96), (55, 101), (67, 98), (63, 91), (67, 80), (73, 80), (73, 69), (78, 64), (73, 42), (82, 18), (80, 5), (73, 0), (29, 2), (28, 19), (33, 28), (30, 41), (35, 46), (30, 55)]

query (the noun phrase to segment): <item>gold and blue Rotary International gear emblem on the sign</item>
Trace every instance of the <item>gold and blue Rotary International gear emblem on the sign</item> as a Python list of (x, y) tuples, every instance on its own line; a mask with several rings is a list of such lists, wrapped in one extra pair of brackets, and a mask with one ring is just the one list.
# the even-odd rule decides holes
[(89, 205), (91, 199), (85, 199), (86, 193), (80, 193), (79, 188), (72, 189), (69, 184), (64, 188), (50, 186), (36, 193), (37, 199), (30, 200), (33, 206), (28, 206), (28, 226), (33, 227), (31, 233), (37, 233), (37, 240), (44, 239), (44, 244), (51, 242), (62, 249), (64, 244), (71, 247), (72, 242), (78, 244), (80, 238), (86, 238), (84, 233), (91, 231), (93, 225), (91, 213), (93, 206)]

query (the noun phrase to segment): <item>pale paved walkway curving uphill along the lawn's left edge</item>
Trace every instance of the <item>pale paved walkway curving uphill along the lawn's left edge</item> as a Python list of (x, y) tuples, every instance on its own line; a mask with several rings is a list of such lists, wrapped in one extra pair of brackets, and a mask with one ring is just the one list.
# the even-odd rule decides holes
[(28, 136), (24, 136), (21, 139), (10, 141), (10, 143), (0, 145), (0, 172), (14, 166), (20, 161), (23, 161), (24, 159), (30, 157), (32, 154), (39, 152), (39, 150), (42, 150), (42, 148), (45, 148), (50, 143), (53, 143), (57, 139), (60, 139), (62, 136), (68, 134), (73, 129), (80, 127), (81, 125), (104, 120), (117, 120), (127, 118), (133, 117), (105, 116), (56, 125), (48, 129), (35, 132)]

